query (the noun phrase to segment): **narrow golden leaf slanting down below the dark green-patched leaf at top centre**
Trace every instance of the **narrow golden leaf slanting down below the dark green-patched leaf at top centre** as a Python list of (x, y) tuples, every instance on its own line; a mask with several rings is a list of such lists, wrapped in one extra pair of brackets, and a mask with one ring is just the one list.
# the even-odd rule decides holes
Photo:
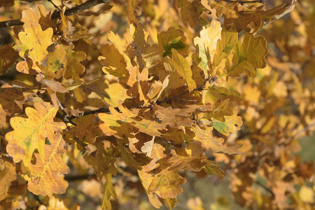
[(188, 61), (179, 52), (172, 48), (172, 59), (169, 64), (174, 66), (179, 75), (181, 75), (187, 83), (189, 92), (192, 92), (197, 87), (195, 80), (193, 80), (193, 71), (191, 71)]

